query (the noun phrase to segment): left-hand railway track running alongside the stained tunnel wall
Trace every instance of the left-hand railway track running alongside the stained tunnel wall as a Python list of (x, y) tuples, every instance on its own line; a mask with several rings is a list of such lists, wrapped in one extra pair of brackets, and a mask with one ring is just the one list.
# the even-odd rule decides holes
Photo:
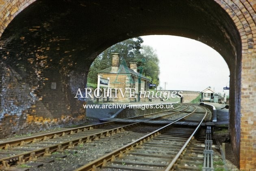
[[(142, 120), (152, 120), (156, 118), (164, 118), (182, 111), (186, 112), (185, 110), (188, 108), (188, 105), (182, 105), (173, 110), (168, 110), (170, 111), (169, 114), (161, 114), (162, 112), (158, 112), (129, 119), (141, 118)], [(160, 116), (147, 118), (156, 114)], [(121, 120), (124, 119), (120, 119), (119, 121)], [(140, 123), (136, 122), (123, 125), (116, 124), (115, 122), (116, 121), (110, 121), (1, 143), (0, 149), (4, 149), (0, 151), (0, 162), (2, 163), (1, 169), (10, 170), (10, 164), (22, 164), (27, 160), (37, 160), (37, 157), (39, 156), (50, 156), (52, 152), (63, 152), (64, 149), (74, 148), (76, 145), (81, 145), (100, 137), (119, 133), (124, 129), (130, 129)], [(65, 138), (67, 135), (69, 136)]]

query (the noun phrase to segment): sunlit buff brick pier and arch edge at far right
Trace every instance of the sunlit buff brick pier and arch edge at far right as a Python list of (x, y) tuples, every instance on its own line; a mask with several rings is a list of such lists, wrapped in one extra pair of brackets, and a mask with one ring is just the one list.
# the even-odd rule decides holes
[[(235, 111), (235, 116), (230, 116), (230, 118), (234, 117), (230, 122), (232, 145), (235, 154), (240, 154), (240, 169), (256, 169), (256, 1), (216, 0), (216, 2), (230, 15), (242, 41), (241, 101), (236, 99), (237, 101), (231, 103), (235, 106), (241, 103), (241, 117), (237, 116), (239, 110)], [(235, 82), (233, 84), (235, 87), (240, 87)], [(236, 132), (240, 131), (241, 137), (238, 139)]]

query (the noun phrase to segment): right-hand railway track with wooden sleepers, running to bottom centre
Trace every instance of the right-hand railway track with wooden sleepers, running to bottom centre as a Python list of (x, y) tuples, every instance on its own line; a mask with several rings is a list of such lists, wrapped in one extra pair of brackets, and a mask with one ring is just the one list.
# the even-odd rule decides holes
[[(200, 107), (202, 109), (202, 107)], [(136, 141), (131, 142), (121, 148), (110, 152), (86, 165), (75, 169), (75, 171), (95, 171), (101, 170), (165, 170), (174, 169), (175, 164), (179, 163), (182, 154), (190, 145), (195, 133), (199, 130), (202, 122), (206, 118), (207, 111), (204, 108), (196, 113), (196, 109), (170, 124), (145, 135)], [(197, 127), (175, 127), (175, 122), (188, 120), (193, 117), (198, 122)], [(200, 120), (198, 120), (201, 116)], [(193, 121), (195, 121), (193, 119)]]

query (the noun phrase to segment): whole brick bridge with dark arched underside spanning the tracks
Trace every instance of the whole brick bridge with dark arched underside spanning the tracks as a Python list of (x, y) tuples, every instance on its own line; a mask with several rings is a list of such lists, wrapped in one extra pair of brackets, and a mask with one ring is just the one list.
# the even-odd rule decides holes
[(230, 69), (230, 135), (240, 169), (256, 168), (255, 0), (0, 0), (0, 135), (82, 122), (95, 57), (152, 34), (192, 38)]

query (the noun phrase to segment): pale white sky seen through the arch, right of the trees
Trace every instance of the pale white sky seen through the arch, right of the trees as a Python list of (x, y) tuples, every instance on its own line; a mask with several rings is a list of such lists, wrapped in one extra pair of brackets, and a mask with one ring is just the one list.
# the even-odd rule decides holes
[(143, 45), (151, 46), (158, 55), (163, 89), (203, 91), (210, 86), (215, 93), (223, 93), (223, 87), (229, 87), (228, 65), (210, 46), (178, 36), (141, 37)]

